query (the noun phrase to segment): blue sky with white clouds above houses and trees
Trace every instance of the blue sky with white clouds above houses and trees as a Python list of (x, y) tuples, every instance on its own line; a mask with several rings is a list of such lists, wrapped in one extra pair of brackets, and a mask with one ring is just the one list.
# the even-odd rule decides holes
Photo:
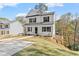
[[(26, 15), (37, 3), (0, 3), (0, 17), (15, 20), (16, 16)], [(48, 11), (58, 16), (71, 12), (79, 13), (79, 3), (47, 3)]]

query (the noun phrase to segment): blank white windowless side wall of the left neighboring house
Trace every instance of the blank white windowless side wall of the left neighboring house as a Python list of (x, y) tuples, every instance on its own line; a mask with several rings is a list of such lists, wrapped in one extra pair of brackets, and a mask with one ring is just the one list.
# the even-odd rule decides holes
[(20, 21), (15, 20), (10, 23), (10, 35), (19, 35), (24, 33), (23, 25)]

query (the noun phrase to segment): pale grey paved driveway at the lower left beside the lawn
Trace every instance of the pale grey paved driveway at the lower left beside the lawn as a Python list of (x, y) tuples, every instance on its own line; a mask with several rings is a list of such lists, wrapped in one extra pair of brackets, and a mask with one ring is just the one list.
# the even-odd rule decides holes
[(11, 56), (30, 45), (32, 45), (31, 42), (23, 40), (10, 40), (0, 42), (0, 56)]

